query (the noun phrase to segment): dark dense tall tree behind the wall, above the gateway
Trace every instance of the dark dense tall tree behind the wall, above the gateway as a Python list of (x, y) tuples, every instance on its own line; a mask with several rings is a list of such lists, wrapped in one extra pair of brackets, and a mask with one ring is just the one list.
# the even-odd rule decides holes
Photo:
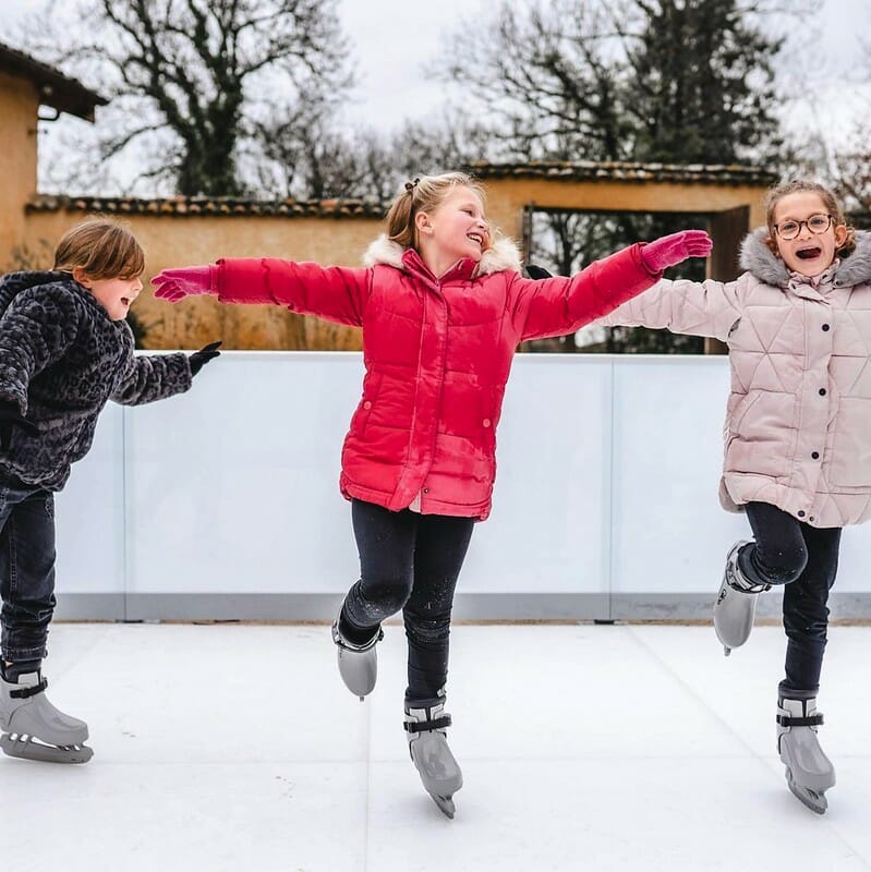
[[(615, 17), (627, 47), (632, 156), (669, 164), (779, 159), (774, 59), (783, 39), (738, 0), (633, 0), (634, 27)], [(630, 19), (630, 22), (632, 19)]]

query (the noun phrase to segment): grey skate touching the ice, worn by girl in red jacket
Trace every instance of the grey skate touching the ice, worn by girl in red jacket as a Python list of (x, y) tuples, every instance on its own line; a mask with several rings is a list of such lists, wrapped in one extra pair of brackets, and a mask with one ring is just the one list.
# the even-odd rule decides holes
[(452, 819), (453, 795), (462, 787), (462, 773), (448, 748), (445, 728), (450, 726), (450, 715), (445, 714), (445, 703), (406, 703), (404, 726), (409, 753), (424, 789), (443, 814)]

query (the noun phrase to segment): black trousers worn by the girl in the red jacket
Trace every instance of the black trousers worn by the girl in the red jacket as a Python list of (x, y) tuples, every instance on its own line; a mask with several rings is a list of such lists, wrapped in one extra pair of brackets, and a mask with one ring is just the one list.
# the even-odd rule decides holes
[(389, 511), (360, 499), (351, 504), (351, 518), (360, 581), (344, 597), (340, 629), (353, 641), (372, 639), (401, 608), (409, 643), (406, 699), (436, 700), (448, 677), (450, 609), (474, 519)]

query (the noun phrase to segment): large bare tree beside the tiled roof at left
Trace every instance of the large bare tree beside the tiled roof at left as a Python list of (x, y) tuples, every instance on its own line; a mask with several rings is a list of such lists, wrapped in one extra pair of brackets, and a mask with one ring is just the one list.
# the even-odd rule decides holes
[(40, 53), (111, 98), (100, 158), (137, 144), (138, 178), (178, 193), (244, 193), (238, 159), (256, 147), (263, 95), (351, 81), (336, 0), (56, 0), (48, 21), (64, 7), (78, 26), (49, 25)]

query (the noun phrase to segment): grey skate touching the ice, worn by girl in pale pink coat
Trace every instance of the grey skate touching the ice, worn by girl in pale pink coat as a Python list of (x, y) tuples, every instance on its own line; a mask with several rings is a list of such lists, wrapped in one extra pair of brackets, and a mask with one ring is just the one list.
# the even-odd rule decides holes
[(777, 751), (786, 766), (786, 783), (796, 798), (816, 814), (825, 814), (825, 791), (835, 784), (835, 767), (816, 738), (816, 727), (822, 723), (816, 700), (779, 701)]

